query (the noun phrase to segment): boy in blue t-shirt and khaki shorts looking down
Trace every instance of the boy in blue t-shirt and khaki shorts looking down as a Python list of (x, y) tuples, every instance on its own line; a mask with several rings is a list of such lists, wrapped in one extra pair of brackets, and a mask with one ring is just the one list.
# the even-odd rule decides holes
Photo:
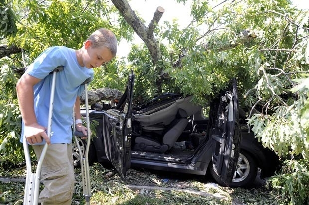
[[(42, 162), (41, 177), (44, 189), (39, 196), (42, 205), (71, 205), (74, 192), (74, 167), (72, 157), (72, 111), (75, 108), (75, 127), (87, 135), (81, 123), (81, 85), (93, 78), (93, 69), (109, 62), (116, 56), (117, 39), (105, 28), (92, 33), (79, 50), (64, 46), (46, 49), (29, 66), (19, 79), (16, 89), (22, 115), (21, 142), (26, 137), (39, 158), (44, 143), (48, 149)], [(52, 75), (58, 66), (54, 95), (52, 136), (46, 130)]]

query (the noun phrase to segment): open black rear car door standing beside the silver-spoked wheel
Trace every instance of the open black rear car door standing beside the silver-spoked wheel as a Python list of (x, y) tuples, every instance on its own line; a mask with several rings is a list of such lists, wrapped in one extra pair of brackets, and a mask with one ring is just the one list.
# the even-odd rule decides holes
[(231, 84), (221, 93), (220, 102), (215, 102), (217, 115), (213, 116), (215, 125), (211, 132), (213, 169), (227, 186), (234, 176), (241, 140), (236, 80)]

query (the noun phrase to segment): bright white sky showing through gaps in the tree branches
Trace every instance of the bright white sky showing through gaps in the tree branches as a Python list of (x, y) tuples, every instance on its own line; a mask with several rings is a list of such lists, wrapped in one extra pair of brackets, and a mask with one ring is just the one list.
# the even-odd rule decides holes
[[(309, 9), (308, 0), (292, 0), (293, 4), (301, 9)], [(145, 25), (148, 26), (149, 22), (154, 16), (157, 7), (164, 8), (164, 13), (159, 21), (172, 21), (178, 19), (179, 25), (187, 26), (191, 20), (190, 18), (190, 4), (178, 4), (175, 0), (131, 0), (129, 4), (132, 10), (137, 11), (139, 15), (145, 20)], [(142, 43), (140, 37), (135, 34), (135, 44)], [(127, 56), (130, 51), (131, 43), (124, 40), (120, 41), (117, 51), (117, 56)]]

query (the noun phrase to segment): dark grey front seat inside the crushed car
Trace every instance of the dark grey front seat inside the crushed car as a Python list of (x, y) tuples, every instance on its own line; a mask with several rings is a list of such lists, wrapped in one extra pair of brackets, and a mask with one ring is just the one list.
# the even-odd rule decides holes
[(139, 136), (135, 138), (135, 150), (165, 153), (176, 143), (189, 120), (187, 118), (175, 119), (167, 132), (163, 135), (162, 141), (149, 136)]

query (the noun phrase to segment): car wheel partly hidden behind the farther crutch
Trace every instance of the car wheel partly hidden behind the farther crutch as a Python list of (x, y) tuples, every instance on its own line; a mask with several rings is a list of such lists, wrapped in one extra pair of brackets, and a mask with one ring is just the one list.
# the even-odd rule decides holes
[[(84, 155), (85, 153), (85, 149), (86, 149), (86, 142), (85, 140), (81, 140), (80, 138), (78, 138), (78, 142), (79, 142), (79, 146), (81, 148), (81, 152), (82, 152), (82, 155)], [(81, 160), (81, 156), (80, 156), (80, 153), (78, 151), (78, 147), (76, 145), (76, 142), (74, 140), (74, 143), (72, 145), (72, 149), (73, 149), (73, 165), (74, 165), (74, 168), (80, 168), (80, 160)], [(91, 166), (95, 161), (96, 161), (96, 152), (95, 152), (95, 147), (94, 147), (94, 144), (93, 142), (90, 143), (90, 146), (89, 146), (89, 152), (88, 152), (88, 163), (89, 163), (89, 166)]]

